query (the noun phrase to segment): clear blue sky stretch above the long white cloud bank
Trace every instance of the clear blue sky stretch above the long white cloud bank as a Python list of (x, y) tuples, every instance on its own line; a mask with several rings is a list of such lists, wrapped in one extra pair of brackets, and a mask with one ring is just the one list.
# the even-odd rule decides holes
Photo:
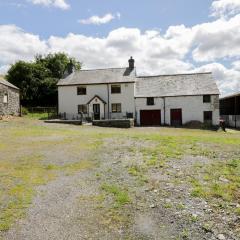
[[(99, 3), (101, 2), (101, 3)], [(71, 9), (34, 5), (24, 0), (0, 0), (0, 23), (16, 24), (27, 32), (47, 38), (69, 32), (88, 36), (106, 36), (119, 27), (160, 29), (179, 23), (192, 26), (209, 21), (211, 0), (69, 0)], [(92, 15), (121, 13), (121, 19), (99, 26), (79, 24), (77, 20)]]

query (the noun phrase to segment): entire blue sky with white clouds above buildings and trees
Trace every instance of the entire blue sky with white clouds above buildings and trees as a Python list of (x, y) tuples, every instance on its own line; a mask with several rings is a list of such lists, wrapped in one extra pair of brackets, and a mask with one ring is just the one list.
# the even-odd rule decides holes
[(240, 91), (240, 0), (0, 0), (0, 73), (36, 54), (66, 52), (84, 69), (138, 75), (213, 72)]

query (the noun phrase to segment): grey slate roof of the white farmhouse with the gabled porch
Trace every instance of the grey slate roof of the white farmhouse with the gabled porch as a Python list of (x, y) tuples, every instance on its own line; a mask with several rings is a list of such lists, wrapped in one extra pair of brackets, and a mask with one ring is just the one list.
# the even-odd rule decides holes
[(135, 69), (131, 70), (130, 68), (108, 68), (76, 71), (65, 79), (59, 80), (58, 86), (124, 83), (135, 81)]

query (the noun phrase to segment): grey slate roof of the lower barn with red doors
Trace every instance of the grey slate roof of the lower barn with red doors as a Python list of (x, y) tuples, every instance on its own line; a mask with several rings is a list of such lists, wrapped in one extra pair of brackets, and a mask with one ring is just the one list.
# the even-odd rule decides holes
[(212, 73), (137, 77), (135, 97), (220, 94)]

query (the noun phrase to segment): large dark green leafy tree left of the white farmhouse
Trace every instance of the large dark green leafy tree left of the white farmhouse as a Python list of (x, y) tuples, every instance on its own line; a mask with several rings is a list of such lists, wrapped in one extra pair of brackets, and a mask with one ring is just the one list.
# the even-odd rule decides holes
[(20, 88), (24, 106), (56, 106), (57, 82), (81, 63), (65, 53), (37, 55), (34, 62), (18, 61), (11, 66), (7, 80)]

